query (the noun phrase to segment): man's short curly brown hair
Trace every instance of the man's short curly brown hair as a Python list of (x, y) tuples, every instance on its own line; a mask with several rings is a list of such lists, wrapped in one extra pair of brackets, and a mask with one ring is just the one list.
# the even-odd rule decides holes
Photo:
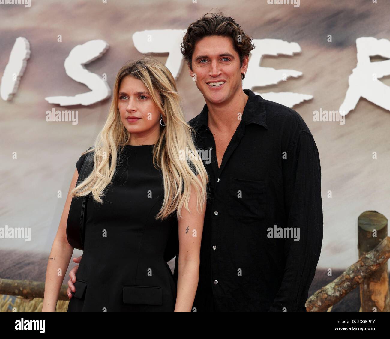
[[(211, 14), (211, 16), (207, 16)], [(223, 13), (206, 13), (202, 18), (188, 26), (187, 32), (180, 44), (181, 54), (190, 66), (192, 71), (192, 55), (195, 44), (200, 39), (211, 35), (223, 35), (233, 39), (233, 47), (240, 57), (242, 67), (245, 55), (249, 56), (250, 51), (255, 49), (252, 39), (243, 31), (241, 26), (230, 16), (223, 16)]]

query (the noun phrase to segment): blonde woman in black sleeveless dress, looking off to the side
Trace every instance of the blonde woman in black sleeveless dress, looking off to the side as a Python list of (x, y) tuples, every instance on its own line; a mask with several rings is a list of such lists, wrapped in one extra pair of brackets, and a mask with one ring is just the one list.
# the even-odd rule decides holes
[[(160, 62), (124, 65), (115, 80), (105, 125), (76, 163), (51, 248), (42, 311), (55, 311), (73, 247), (66, 236), (72, 197), (89, 196), (76, 294), (68, 312), (190, 312), (199, 280), (199, 253), (208, 177), (181, 109), (176, 83)], [(91, 174), (78, 186), (88, 156)], [(195, 173), (196, 172), (196, 173)], [(173, 227), (179, 233), (177, 291), (163, 259)]]

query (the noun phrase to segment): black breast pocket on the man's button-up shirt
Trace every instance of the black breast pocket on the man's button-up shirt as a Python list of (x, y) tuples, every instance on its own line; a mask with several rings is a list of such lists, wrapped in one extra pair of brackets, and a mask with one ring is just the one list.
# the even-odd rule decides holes
[(265, 180), (232, 177), (227, 206), (235, 220), (254, 223), (266, 217), (267, 189)]

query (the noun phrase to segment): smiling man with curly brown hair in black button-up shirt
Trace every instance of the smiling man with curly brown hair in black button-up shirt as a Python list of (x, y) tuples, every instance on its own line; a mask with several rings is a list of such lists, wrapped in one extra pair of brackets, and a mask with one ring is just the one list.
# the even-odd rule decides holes
[(318, 149), (296, 111), (243, 90), (252, 39), (234, 19), (209, 14), (181, 44), (206, 101), (189, 123), (197, 147), (211, 150), (193, 307), (305, 312), (323, 239)]

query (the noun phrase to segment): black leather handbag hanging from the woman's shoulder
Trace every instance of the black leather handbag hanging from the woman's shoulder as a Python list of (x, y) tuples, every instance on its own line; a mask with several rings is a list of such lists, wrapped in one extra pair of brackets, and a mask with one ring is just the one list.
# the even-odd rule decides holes
[[(79, 185), (89, 174), (94, 167), (94, 152), (86, 154), (85, 161), (80, 169), (80, 174), (77, 179), (76, 186)], [(66, 236), (69, 245), (78, 250), (84, 250), (85, 238), (85, 222), (86, 209), (89, 195), (84, 197), (72, 198), (71, 207), (69, 209), (68, 220), (66, 224)]]

